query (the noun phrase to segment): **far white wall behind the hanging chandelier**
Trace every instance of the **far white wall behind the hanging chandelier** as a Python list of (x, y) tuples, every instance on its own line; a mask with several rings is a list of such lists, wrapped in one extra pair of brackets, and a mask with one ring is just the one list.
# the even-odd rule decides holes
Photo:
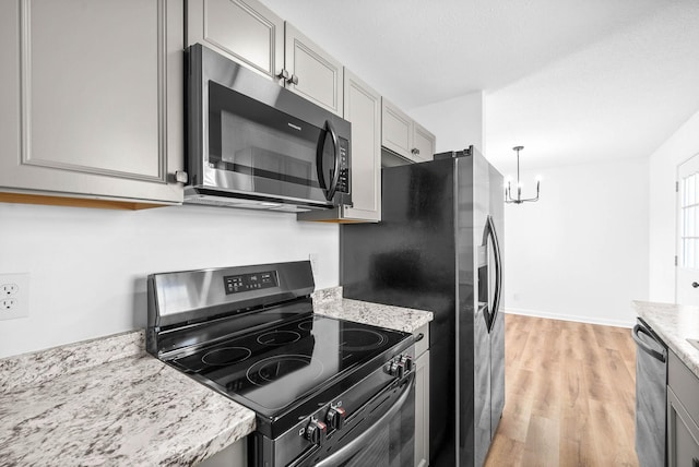
[(648, 299), (648, 159), (537, 173), (541, 200), (505, 209), (506, 310), (631, 326), (630, 301)]

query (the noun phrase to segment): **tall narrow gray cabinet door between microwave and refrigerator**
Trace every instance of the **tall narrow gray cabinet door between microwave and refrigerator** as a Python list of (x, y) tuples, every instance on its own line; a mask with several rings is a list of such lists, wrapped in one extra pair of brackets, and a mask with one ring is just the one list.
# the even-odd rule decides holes
[(352, 201), (344, 217), (381, 220), (381, 96), (344, 71), (344, 116), (352, 123)]

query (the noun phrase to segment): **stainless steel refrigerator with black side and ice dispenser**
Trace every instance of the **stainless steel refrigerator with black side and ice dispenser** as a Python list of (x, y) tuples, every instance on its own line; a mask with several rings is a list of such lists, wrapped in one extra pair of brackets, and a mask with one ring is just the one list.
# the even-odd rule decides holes
[(382, 221), (341, 227), (344, 297), (430, 310), (430, 466), (481, 466), (505, 406), (502, 176), (478, 153), (382, 170)]

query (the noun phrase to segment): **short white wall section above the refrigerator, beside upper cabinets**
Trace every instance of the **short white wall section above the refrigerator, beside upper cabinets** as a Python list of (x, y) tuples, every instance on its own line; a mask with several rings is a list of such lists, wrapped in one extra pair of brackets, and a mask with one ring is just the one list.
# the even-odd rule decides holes
[(486, 154), (483, 139), (483, 92), (416, 107), (408, 113), (435, 133), (438, 153), (460, 151), (473, 144), (476, 149)]

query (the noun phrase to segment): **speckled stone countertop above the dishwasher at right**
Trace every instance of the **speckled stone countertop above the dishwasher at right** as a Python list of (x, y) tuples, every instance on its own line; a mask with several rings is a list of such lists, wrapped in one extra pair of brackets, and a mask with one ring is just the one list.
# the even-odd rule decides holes
[(687, 339), (699, 339), (699, 307), (633, 301), (638, 315), (699, 378), (699, 349)]

